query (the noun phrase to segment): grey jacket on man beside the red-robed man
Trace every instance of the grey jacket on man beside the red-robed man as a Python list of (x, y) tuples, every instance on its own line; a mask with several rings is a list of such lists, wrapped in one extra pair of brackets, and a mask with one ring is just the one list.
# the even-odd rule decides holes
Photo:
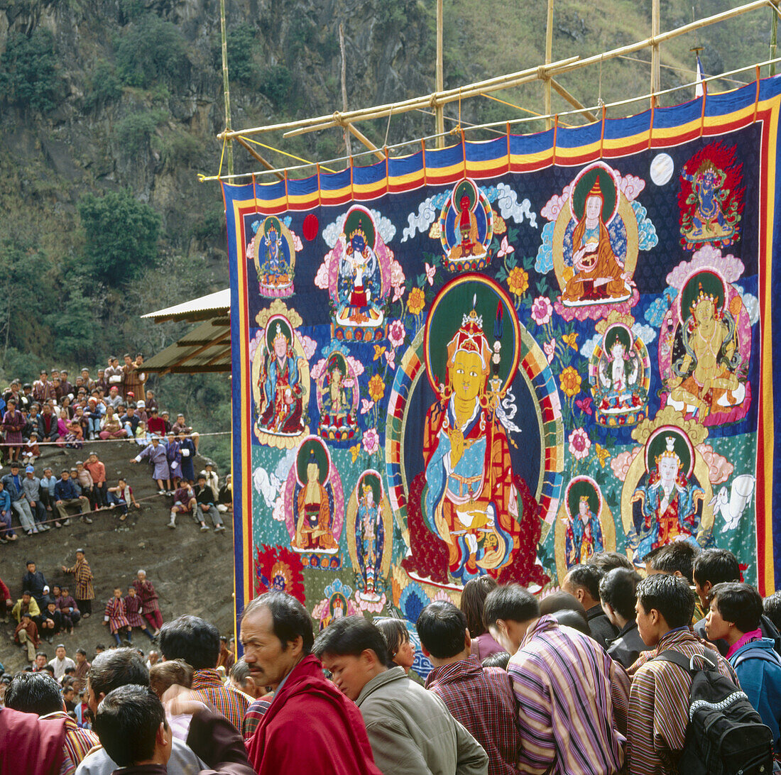
[(355, 704), (384, 775), (487, 775), (482, 746), (403, 667), (374, 677)]

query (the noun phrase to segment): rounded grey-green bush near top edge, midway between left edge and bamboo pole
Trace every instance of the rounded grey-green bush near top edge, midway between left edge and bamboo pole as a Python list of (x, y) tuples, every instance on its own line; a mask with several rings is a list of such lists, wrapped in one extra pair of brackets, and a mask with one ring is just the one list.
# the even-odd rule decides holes
[(189, 64), (184, 35), (154, 13), (138, 17), (116, 46), (116, 71), (128, 86), (145, 89), (159, 80), (182, 85)]

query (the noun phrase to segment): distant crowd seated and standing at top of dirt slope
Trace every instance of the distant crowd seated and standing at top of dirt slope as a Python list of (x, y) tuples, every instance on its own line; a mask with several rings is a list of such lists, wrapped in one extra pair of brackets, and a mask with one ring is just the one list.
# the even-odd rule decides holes
[[(147, 460), (161, 495), (173, 496), (169, 521), (191, 514), (201, 531), (223, 531), (223, 517), (233, 499), (230, 475), (222, 485), (207, 464), (196, 474), (194, 458), (199, 435), (178, 414), (170, 421), (160, 411), (155, 394), (145, 390), (144, 358), (137, 354), (109, 358), (109, 365), (91, 379), (83, 368), (75, 383), (66, 370), (41, 370), (33, 383), (14, 379), (0, 397), (0, 453), (9, 473), (0, 479), (0, 544), (16, 541), (14, 522), (25, 535), (36, 535), (69, 524), (77, 516), (91, 523), (91, 511), (117, 509), (127, 520), (131, 507), (141, 508), (127, 479), (106, 479), (105, 465), (93, 447), (70, 468), (41, 467), (41, 450), (81, 449), (95, 440), (126, 440), (141, 450), (131, 464)], [(144, 397), (145, 396), (145, 397)], [(37, 466), (37, 470), (36, 470)]]

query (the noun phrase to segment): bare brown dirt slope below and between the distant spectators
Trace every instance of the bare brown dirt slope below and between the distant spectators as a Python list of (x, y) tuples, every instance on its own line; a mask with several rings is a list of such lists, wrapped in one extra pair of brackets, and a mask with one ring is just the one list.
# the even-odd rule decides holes
[[(41, 649), (52, 658), (54, 647), (61, 640), (69, 656), (81, 646), (87, 651), (87, 659), (91, 659), (96, 644), (110, 645), (113, 638), (103, 625), (103, 607), (114, 585), (127, 590), (139, 568), (144, 568), (155, 585), (164, 620), (192, 613), (212, 621), (220, 632), (230, 634), (234, 617), (231, 515), (223, 515), (229, 518), (222, 534), (213, 530), (201, 533), (189, 515), (177, 517), (176, 530), (170, 530), (167, 524), (173, 499), (156, 495), (157, 487), (149, 477), (147, 464), (130, 464), (130, 458), (140, 448), (127, 441), (87, 443), (84, 450), (46, 448), (35, 466), (36, 475), (42, 475), (46, 466), (59, 475), (63, 467), (86, 460), (91, 448), (105, 464), (109, 486), (116, 484), (120, 474), (127, 476), (141, 510), (131, 509), (124, 523), (119, 522), (119, 510), (100, 511), (92, 514), (93, 524), (76, 519), (67, 527), (52, 528), (29, 538), (17, 528), (19, 540), (0, 546), (0, 578), (9, 586), (15, 600), (21, 596), (27, 560), (37, 563), (50, 586), (67, 581), (72, 594), (73, 576), (63, 574), (60, 568), (73, 566), (77, 548), (84, 549), (95, 574), (94, 615), (82, 620), (73, 635), (60, 635), (53, 645), (44, 641)], [(196, 474), (204, 463), (203, 458), (196, 457)], [(8, 467), (4, 467), (0, 473), (8, 472)], [(6, 670), (25, 665), (24, 653), (12, 642), (12, 635), (12, 624), (0, 624), (0, 662)], [(141, 631), (134, 631), (134, 645), (144, 651), (149, 649), (149, 641)]]

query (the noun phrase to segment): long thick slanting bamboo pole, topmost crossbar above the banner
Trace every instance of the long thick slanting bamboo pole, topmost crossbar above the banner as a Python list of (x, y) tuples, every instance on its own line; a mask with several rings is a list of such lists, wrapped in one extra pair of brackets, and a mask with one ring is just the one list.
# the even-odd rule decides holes
[(736, 8), (729, 9), (716, 13), (713, 16), (708, 16), (704, 19), (697, 20), (696, 22), (685, 24), (683, 27), (677, 27), (673, 30), (658, 34), (656, 37), (645, 38), (642, 41), (636, 43), (627, 44), (620, 48), (614, 48), (604, 54), (597, 54), (587, 57), (586, 59), (580, 59), (578, 56), (572, 56), (567, 59), (560, 59), (558, 62), (551, 62), (549, 66), (540, 65), (525, 70), (519, 70), (517, 73), (508, 73), (507, 75), (497, 76), (483, 81), (478, 81), (474, 84), (469, 84), (465, 87), (448, 89), (446, 91), (433, 92), (432, 94), (426, 94), (423, 97), (410, 98), (396, 103), (389, 103), (387, 105), (375, 105), (372, 108), (362, 108), (361, 110), (353, 110), (346, 113), (333, 112), (329, 116), (316, 116), (310, 119), (300, 119), (298, 121), (291, 121), (278, 124), (270, 124), (268, 126), (255, 126), (251, 129), (234, 131), (234, 132), (221, 132), (217, 137), (219, 140), (223, 138), (237, 137), (238, 135), (250, 135), (259, 134), (264, 132), (273, 132), (280, 130), (294, 130), (301, 128), (308, 128), (310, 131), (317, 131), (323, 129), (329, 129), (333, 126), (342, 126), (343, 123), (352, 123), (355, 121), (366, 121), (369, 119), (387, 118), (387, 116), (393, 113), (405, 113), (412, 110), (430, 109), (437, 105), (446, 105), (449, 102), (455, 102), (458, 99), (465, 99), (469, 97), (476, 97), (483, 91), (501, 91), (509, 87), (519, 86), (521, 84), (528, 84), (534, 80), (542, 80), (547, 76), (556, 77), (563, 73), (571, 73), (572, 70), (580, 69), (581, 67), (588, 67), (596, 64), (597, 62), (604, 62), (607, 59), (615, 59), (616, 57), (633, 54), (641, 51), (644, 48), (648, 48), (653, 44), (662, 44), (673, 40), (681, 35), (690, 34), (694, 30), (699, 30), (702, 27), (708, 27), (711, 24), (727, 21), (733, 19), (736, 16), (741, 16), (744, 13), (755, 11), (768, 6), (776, 7), (773, 0), (754, 0), (754, 2), (747, 3), (746, 5), (740, 5)]

